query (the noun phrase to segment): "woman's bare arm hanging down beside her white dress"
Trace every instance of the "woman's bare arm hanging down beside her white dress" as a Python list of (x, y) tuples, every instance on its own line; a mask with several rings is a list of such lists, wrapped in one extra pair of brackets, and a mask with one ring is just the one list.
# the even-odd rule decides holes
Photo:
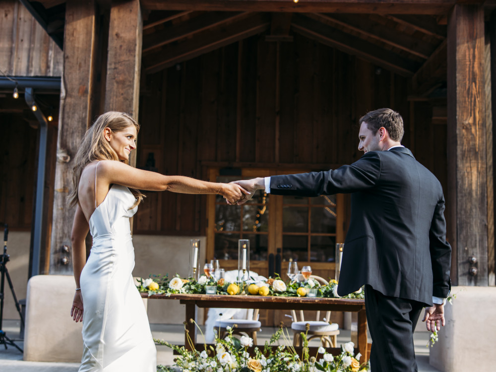
[(74, 294), (70, 316), (72, 316), (72, 319), (76, 322), (83, 321), (83, 298), (81, 296), (79, 278), (86, 263), (85, 239), (89, 229), (88, 221), (86, 221), (86, 217), (84, 217), (83, 211), (78, 204), (76, 206), (74, 222), (72, 223), (72, 232), (70, 234), (70, 240), (72, 242), (72, 269), (74, 271), (76, 288), (78, 288)]

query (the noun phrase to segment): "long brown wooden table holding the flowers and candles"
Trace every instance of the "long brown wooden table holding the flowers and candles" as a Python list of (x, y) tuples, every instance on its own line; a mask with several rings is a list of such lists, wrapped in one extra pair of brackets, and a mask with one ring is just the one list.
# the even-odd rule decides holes
[[(322, 297), (279, 297), (279, 296), (251, 296), (251, 295), (203, 295), (203, 294), (160, 294), (150, 295), (141, 293), (141, 297), (159, 300), (179, 300), (186, 305), (186, 331), (185, 347), (191, 350), (203, 350), (203, 345), (196, 344), (196, 315), (197, 308), (237, 308), (237, 309), (272, 309), (272, 310), (320, 310), (320, 311), (350, 311), (358, 312), (358, 344), (355, 345), (355, 354), (361, 353), (360, 363), (367, 362), (367, 316), (365, 313), (365, 300), (341, 299)], [(188, 341), (188, 334), (192, 345)], [(301, 352), (301, 347), (295, 348)], [(310, 347), (310, 355), (316, 354), (317, 348)], [(315, 350), (313, 350), (315, 349)], [(327, 348), (328, 353), (338, 355), (341, 348)]]

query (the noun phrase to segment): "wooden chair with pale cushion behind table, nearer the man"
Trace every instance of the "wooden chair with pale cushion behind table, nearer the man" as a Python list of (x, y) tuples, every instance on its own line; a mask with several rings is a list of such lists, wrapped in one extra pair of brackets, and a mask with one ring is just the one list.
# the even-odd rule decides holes
[[(320, 285), (328, 284), (328, 282), (320, 276), (310, 275), (310, 278), (316, 280)], [(317, 311), (315, 320), (305, 320), (303, 310), (300, 310), (300, 321), (298, 321), (295, 310), (291, 310), (291, 315), (293, 318), (291, 329), (294, 332), (294, 346), (301, 346), (300, 344), (302, 339), (300, 333), (307, 332), (307, 324), (310, 324), (310, 329), (307, 332), (307, 338), (309, 341), (312, 338), (319, 337), (323, 346), (336, 347), (336, 336), (339, 334), (339, 326), (337, 323), (330, 323), (330, 311), (326, 311), (324, 320), (320, 320), (320, 311)]]

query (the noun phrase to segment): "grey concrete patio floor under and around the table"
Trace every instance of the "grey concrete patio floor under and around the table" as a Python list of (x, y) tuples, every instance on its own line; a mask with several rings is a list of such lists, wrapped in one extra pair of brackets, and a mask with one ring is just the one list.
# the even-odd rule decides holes
[[(151, 324), (154, 338), (164, 339), (171, 343), (181, 344), (184, 342), (183, 325), (177, 324)], [(419, 329), (419, 328), (417, 328)], [(258, 343), (264, 344), (266, 340), (274, 333), (274, 328), (262, 327), (262, 331), (257, 333)], [(19, 321), (4, 320), (3, 331), (14, 340), (22, 349), (23, 342), (19, 339)], [(417, 364), (419, 372), (439, 372), (439, 370), (429, 365), (429, 348), (426, 347), (429, 339), (429, 333), (418, 330), (414, 335), (415, 353), (417, 355)], [(350, 331), (341, 330), (337, 337), (339, 344), (344, 344), (350, 340)], [(203, 342), (201, 335), (197, 338), (198, 342)], [(318, 346), (318, 340), (311, 340), (311, 346)], [(172, 365), (172, 351), (165, 346), (157, 346), (157, 363), (162, 365)], [(47, 362), (25, 362), (22, 360), (22, 354), (13, 346), (8, 345), (5, 350), (0, 345), (0, 371), (1, 372), (77, 372), (78, 363), (47, 363)]]

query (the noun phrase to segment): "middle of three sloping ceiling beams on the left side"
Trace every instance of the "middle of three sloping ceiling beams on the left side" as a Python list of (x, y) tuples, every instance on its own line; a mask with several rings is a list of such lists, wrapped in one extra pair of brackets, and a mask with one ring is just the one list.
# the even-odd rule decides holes
[(146, 53), (154, 48), (172, 43), (183, 39), (187, 36), (194, 35), (198, 32), (214, 28), (216, 26), (233, 22), (241, 17), (246, 16), (243, 12), (207, 12), (193, 19), (171, 26), (153, 34), (146, 35), (143, 40), (143, 53)]

